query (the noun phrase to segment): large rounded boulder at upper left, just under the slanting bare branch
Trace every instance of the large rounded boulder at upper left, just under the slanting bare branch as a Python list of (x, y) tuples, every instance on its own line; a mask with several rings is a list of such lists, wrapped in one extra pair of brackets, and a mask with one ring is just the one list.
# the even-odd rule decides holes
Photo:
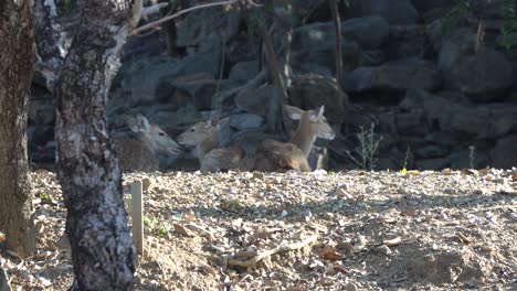
[(241, 22), (239, 10), (225, 10), (222, 7), (194, 10), (180, 22), (176, 43), (178, 46), (204, 45), (204, 50), (209, 50), (211, 43), (226, 42), (235, 36)]

